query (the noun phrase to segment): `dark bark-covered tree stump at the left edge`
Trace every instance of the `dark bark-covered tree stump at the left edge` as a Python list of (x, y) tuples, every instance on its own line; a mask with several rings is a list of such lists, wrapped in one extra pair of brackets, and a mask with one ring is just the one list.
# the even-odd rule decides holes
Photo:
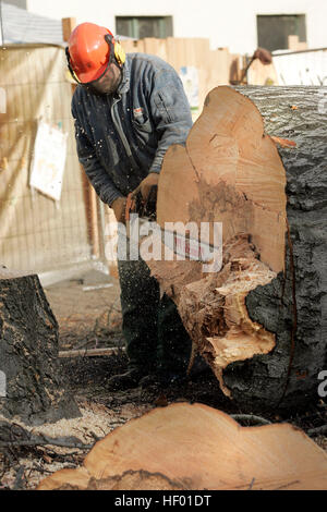
[(33, 426), (81, 416), (58, 353), (58, 324), (38, 277), (0, 269), (1, 415)]

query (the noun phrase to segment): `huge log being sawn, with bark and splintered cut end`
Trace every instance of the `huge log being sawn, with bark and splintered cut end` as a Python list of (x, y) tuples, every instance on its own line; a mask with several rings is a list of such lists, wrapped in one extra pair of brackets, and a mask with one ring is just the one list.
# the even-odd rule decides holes
[(304, 407), (318, 399), (327, 367), (320, 101), (317, 87), (218, 87), (185, 147), (170, 147), (164, 160), (160, 228), (221, 222), (222, 268), (147, 263), (177, 303), (194, 352), (243, 412)]

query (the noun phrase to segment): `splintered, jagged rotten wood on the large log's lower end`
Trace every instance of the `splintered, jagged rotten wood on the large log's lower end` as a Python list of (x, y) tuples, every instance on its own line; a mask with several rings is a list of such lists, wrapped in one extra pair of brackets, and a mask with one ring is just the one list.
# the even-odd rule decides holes
[(225, 245), (222, 270), (190, 283), (181, 295), (180, 313), (189, 332), (199, 341), (197, 350), (210, 362), (228, 397), (223, 369), (235, 361), (268, 354), (276, 345), (275, 336), (250, 318), (245, 305), (251, 290), (276, 277), (257, 256), (247, 235), (232, 239)]

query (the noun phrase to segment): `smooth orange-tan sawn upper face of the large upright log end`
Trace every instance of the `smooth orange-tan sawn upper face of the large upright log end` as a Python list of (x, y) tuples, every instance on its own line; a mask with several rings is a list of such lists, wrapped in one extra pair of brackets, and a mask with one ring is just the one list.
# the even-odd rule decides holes
[[(223, 241), (251, 234), (261, 260), (284, 269), (286, 171), (256, 106), (230, 87), (207, 96), (186, 147), (164, 160), (158, 223), (222, 222)], [(213, 242), (213, 240), (210, 240)]]

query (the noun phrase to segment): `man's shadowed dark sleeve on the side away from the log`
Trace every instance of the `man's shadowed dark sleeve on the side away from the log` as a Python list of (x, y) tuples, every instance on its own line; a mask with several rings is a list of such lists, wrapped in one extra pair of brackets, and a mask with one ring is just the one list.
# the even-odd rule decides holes
[(85, 131), (78, 123), (74, 108), (72, 109), (72, 113), (75, 119), (75, 138), (78, 160), (97, 195), (104, 203), (111, 207), (114, 200), (123, 197), (123, 195), (118, 191), (109, 174), (102, 168)]

